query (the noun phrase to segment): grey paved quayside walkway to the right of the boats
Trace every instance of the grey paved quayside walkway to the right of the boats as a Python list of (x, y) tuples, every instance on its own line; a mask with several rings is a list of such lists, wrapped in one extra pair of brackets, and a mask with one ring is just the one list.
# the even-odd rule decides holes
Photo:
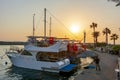
[(107, 53), (96, 53), (100, 57), (101, 71), (86, 69), (83, 73), (75, 76), (74, 80), (115, 80), (115, 65), (117, 56)]

